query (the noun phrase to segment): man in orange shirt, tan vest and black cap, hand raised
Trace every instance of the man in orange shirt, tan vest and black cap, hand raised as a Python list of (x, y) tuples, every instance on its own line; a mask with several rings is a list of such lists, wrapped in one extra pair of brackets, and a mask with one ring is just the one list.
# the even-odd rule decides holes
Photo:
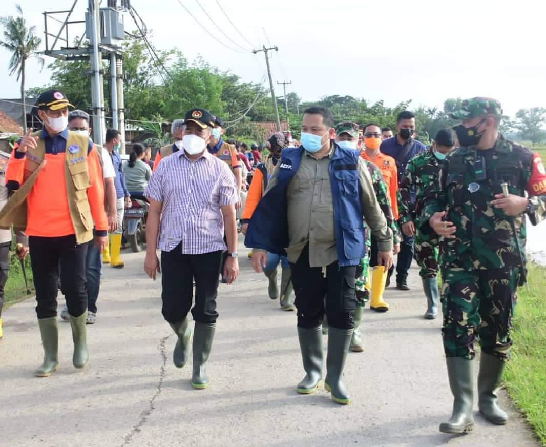
[(100, 160), (88, 136), (67, 129), (69, 106), (73, 107), (60, 91), (48, 90), (39, 96), (37, 114), (44, 128), (27, 132), (15, 144), (6, 172), (6, 186), (15, 192), (0, 213), (0, 225), (17, 220), (29, 239), (44, 346), (44, 362), (35, 372), (37, 377), (48, 377), (59, 364), (59, 264), (72, 325), (73, 364), (76, 368), (87, 364), (87, 248), (94, 239), (103, 249), (107, 240)]

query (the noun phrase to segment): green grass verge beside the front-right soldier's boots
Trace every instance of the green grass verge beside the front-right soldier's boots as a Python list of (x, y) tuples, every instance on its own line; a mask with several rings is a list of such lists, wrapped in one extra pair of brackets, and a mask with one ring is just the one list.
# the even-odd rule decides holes
[(518, 290), (505, 386), (546, 445), (546, 269), (530, 264), (528, 281)]

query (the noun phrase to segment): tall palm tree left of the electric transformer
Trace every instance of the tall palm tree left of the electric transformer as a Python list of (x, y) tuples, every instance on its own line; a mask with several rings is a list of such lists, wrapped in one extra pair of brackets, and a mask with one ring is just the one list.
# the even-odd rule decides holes
[(0, 25), (4, 27), (4, 40), (0, 40), (0, 46), (11, 51), (9, 61), (9, 75), (17, 73), (17, 81), (21, 79), (21, 102), (23, 104), (22, 119), (23, 131), (27, 131), (27, 117), (25, 104), (25, 68), (29, 58), (35, 57), (44, 67), (44, 59), (38, 55), (38, 47), (41, 39), (35, 36), (36, 27), (27, 28), (23, 17), (23, 10), (16, 5), (20, 17), (0, 17)]

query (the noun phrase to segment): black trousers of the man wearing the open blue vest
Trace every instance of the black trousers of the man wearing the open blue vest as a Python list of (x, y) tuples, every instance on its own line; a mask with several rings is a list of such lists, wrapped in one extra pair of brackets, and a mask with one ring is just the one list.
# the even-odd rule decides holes
[(298, 262), (290, 263), (290, 269), (299, 327), (320, 326), (324, 313), (328, 317), (329, 326), (338, 329), (354, 327), (353, 312), (357, 308), (354, 281), (357, 266), (340, 267), (336, 261), (327, 266), (324, 278), (321, 267), (309, 266), (307, 245)]

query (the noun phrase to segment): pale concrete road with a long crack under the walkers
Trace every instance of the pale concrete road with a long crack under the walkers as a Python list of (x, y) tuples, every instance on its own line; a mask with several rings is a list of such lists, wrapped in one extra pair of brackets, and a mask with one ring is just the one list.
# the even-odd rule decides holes
[(161, 283), (143, 272), (143, 253), (126, 252), (123, 270), (104, 268), (84, 370), (72, 367), (70, 326), (61, 322), (61, 367), (50, 378), (34, 378), (42, 356), (34, 301), (5, 311), (0, 445), (538, 445), (504, 396), (508, 425), (492, 426), (476, 414), (467, 436), (438, 432), (452, 397), (441, 321), (422, 318), (417, 269), (410, 292), (387, 291), (388, 313), (365, 311), (366, 350), (349, 355), (345, 374), (353, 404), (337, 405), (323, 389), (298, 395), (303, 372), (295, 314), (270, 301), (265, 277), (251, 271), (242, 244), (240, 252), (239, 280), (219, 287), (207, 390), (189, 385), (191, 365), (177, 369), (171, 361), (175, 336), (161, 315)]

